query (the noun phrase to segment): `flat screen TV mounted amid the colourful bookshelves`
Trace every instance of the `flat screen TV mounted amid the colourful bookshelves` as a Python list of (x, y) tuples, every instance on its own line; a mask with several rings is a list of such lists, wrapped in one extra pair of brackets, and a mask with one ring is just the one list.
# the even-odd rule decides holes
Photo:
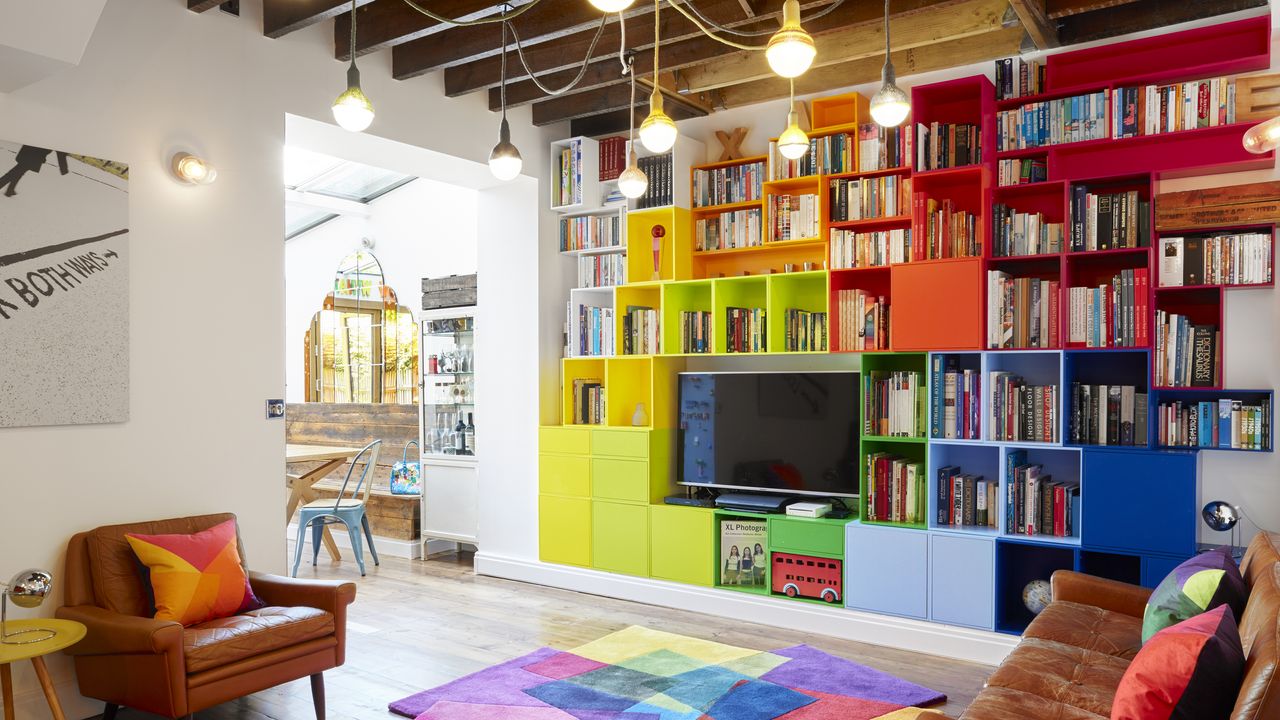
[(681, 373), (680, 484), (858, 496), (858, 373)]

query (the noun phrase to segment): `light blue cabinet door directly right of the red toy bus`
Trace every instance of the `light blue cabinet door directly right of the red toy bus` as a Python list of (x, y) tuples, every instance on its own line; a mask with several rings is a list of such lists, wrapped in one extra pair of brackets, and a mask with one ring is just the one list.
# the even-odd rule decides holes
[(929, 536), (923, 530), (845, 527), (845, 605), (887, 615), (929, 615)]

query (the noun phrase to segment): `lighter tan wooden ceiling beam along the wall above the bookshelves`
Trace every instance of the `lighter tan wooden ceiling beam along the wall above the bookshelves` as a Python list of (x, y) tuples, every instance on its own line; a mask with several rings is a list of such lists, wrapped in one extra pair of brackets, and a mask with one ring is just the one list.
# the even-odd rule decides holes
[[(1004, 27), (1007, 8), (1009, 0), (947, 0), (927, 10), (904, 13), (891, 19), (893, 47), (908, 50), (998, 29)], [(864, 22), (815, 35), (814, 45), (818, 47), (818, 56), (809, 72), (861, 58), (883, 58), (883, 22)], [(764, 54), (746, 51), (681, 73), (682, 88), (689, 92), (705, 92), (771, 77), (776, 76)]]

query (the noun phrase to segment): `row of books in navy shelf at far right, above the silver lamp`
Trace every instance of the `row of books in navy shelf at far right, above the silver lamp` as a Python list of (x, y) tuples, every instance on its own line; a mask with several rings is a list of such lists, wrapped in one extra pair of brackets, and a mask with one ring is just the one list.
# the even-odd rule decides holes
[(1271, 398), (1257, 405), (1220, 398), (1161, 402), (1156, 409), (1161, 447), (1271, 450)]

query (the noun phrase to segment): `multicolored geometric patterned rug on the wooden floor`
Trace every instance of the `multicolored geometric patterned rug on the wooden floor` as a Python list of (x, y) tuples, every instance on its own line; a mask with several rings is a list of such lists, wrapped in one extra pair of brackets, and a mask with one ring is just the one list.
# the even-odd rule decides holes
[(631, 626), (390, 703), (416, 720), (905, 720), (946, 696), (806, 644), (745, 650)]

